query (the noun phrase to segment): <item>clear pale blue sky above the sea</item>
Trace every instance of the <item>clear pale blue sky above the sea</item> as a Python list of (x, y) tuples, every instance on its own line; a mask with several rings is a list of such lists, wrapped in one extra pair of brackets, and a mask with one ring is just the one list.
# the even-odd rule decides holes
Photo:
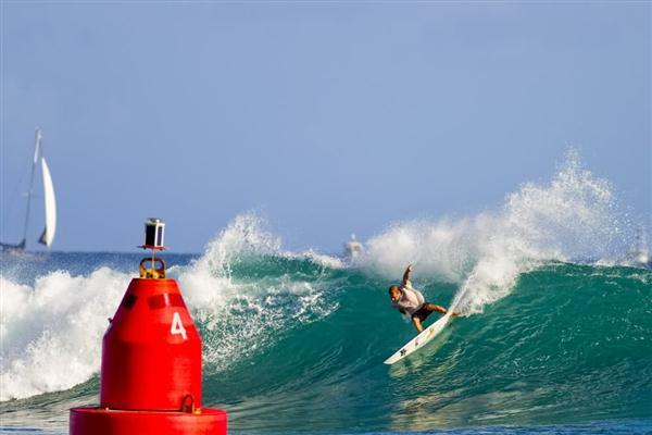
[(175, 251), (199, 251), (251, 210), (290, 247), (337, 250), (351, 232), (500, 207), (569, 147), (651, 214), (648, 2), (1, 12), (4, 240), (21, 236), (36, 126), (60, 250), (131, 250), (158, 215)]

